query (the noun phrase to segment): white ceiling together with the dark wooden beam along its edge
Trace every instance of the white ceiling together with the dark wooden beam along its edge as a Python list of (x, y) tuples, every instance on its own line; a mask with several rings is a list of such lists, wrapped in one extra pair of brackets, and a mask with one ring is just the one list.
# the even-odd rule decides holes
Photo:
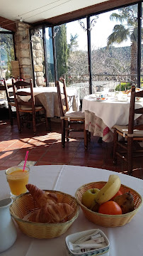
[(16, 21), (55, 25), (138, 0), (0, 0), (0, 28), (16, 31)]

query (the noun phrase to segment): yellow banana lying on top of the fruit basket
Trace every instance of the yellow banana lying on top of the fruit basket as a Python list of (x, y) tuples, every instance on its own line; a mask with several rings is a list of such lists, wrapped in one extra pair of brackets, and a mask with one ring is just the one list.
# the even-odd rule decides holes
[(98, 191), (96, 195), (96, 202), (101, 204), (109, 201), (120, 189), (121, 181), (118, 175), (111, 174), (108, 182)]

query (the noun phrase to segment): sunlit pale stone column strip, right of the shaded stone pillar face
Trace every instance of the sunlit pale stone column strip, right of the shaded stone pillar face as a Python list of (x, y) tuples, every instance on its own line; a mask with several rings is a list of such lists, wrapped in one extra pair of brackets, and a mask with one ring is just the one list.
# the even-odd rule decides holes
[(35, 86), (46, 86), (42, 28), (35, 28), (35, 30), (31, 31), (31, 44), (33, 53)]

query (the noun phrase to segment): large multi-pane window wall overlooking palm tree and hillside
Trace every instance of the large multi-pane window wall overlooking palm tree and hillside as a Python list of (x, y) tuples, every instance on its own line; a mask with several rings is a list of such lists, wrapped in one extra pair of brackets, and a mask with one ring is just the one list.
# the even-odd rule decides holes
[[(47, 85), (55, 82), (55, 74), (58, 80), (64, 77), (67, 86), (79, 89), (81, 99), (88, 95), (90, 86), (95, 92), (105, 88), (110, 91), (125, 90), (137, 85), (137, 12), (138, 4), (134, 4), (95, 14), (90, 17), (88, 30), (88, 18), (55, 26), (54, 35), (52, 28), (45, 28), (45, 58), (43, 49), (40, 56), (43, 70), (36, 73), (37, 77), (40, 75), (45, 79), (47, 76)], [(88, 42), (91, 46), (88, 46), (90, 35), (91, 41)], [(55, 38), (57, 63), (53, 58), (52, 36)], [(43, 47), (43, 41), (40, 44)], [(91, 62), (88, 62), (88, 49), (91, 49)], [(35, 65), (40, 64), (35, 63), (34, 58), (33, 63), (35, 70)], [(141, 71), (142, 63), (141, 58)], [(57, 70), (54, 70), (54, 64), (57, 64)]]

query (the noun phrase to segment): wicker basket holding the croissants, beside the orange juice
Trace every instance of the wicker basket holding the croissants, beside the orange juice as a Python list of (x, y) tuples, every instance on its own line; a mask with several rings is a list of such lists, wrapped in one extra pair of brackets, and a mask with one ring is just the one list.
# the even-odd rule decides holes
[(33, 196), (31, 196), (30, 193), (21, 194), (21, 196), (18, 196), (11, 204), (10, 212), (11, 216), (16, 220), (18, 227), (25, 235), (33, 238), (56, 238), (64, 234), (78, 217), (79, 204), (76, 198), (60, 191), (48, 190), (47, 192), (54, 192), (57, 195), (58, 203), (69, 203), (69, 205), (74, 208), (74, 213), (68, 216), (65, 223), (30, 222), (25, 220), (25, 216), (28, 215), (30, 211), (38, 209), (38, 205), (33, 200)]

